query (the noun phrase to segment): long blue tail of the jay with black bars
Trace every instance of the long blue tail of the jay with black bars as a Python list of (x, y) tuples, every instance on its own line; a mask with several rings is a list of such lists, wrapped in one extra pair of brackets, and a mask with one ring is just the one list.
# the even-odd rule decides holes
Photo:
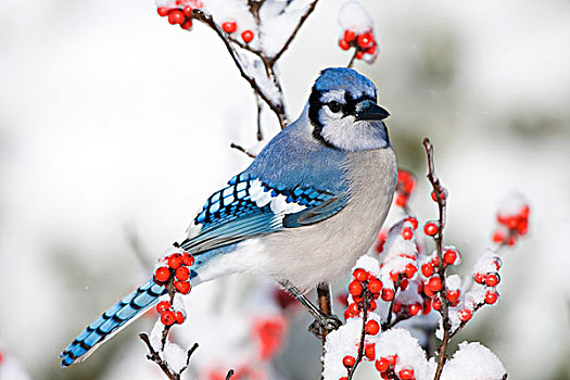
[(60, 354), (62, 367), (71, 366), (87, 358), (105, 339), (111, 338), (137, 317), (140, 317), (144, 311), (156, 304), (159, 297), (166, 292), (166, 288), (150, 280), (121, 300), (89, 325)]

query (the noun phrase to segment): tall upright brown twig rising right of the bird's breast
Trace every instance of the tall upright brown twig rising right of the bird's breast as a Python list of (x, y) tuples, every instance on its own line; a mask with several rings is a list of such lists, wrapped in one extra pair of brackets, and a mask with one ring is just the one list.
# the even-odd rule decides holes
[(433, 237), (433, 240), (435, 241), (435, 250), (438, 252), (438, 276), (440, 276), (441, 282), (442, 282), (442, 292), (441, 292), (441, 301), (442, 301), (442, 307), (441, 307), (441, 315), (442, 315), (442, 324), (443, 324), (443, 338), (440, 347), (438, 349), (438, 368), (435, 369), (435, 377), (434, 380), (439, 380), (442, 371), (443, 366), (445, 365), (445, 352), (447, 351), (447, 344), (449, 343), (451, 339), (451, 329), (452, 324), (449, 321), (449, 314), (448, 314), (448, 302), (446, 299), (446, 286), (445, 286), (445, 266), (443, 265), (443, 228), (445, 227), (445, 199), (442, 197), (443, 188), (440, 183), (440, 179), (435, 175), (435, 166), (433, 164), (433, 145), (431, 144), (430, 140), (428, 138), (423, 139), (423, 148), (426, 149), (426, 154), (428, 159), (428, 180), (430, 181), (433, 192), (435, 194), (435, 199), (438, 201), (438, 208), (439, 208), (439, 230), (438, 233)]

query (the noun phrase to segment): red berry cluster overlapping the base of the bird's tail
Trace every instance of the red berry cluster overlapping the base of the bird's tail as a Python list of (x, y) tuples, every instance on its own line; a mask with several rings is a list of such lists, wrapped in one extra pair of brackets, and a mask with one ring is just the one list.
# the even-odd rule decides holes
[(190, 289), (190, 269), (194, 265), (194, 256), (188, 252), (173, 253), (161, 261), (154, 270), (154, 282), (166, 287), (169, 281), (174, 282), (174, 288), (178, 293), (188, 294)]

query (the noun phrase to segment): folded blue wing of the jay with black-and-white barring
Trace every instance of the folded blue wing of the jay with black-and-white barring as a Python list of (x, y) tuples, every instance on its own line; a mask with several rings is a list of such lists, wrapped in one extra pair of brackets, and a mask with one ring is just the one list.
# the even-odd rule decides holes
[[(345, 192), (271, 186), (242, 173), (208, 198), (194, 219), (200, 232), (182, 248), (194, 254), (325, 220), (346, 204)], [(280, 202), (280, 206), (276, 206)]]

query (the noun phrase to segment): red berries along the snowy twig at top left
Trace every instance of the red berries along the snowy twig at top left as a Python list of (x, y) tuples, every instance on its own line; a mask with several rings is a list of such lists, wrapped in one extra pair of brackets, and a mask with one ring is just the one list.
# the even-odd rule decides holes
[[(204, 8), (200, 0), (176, 0), (174, 7), (159, 7), (157, 12), (160, 16), (168, 17), (172, 25), (180, 25), (182, 29), (188, 30), (192, 27), (192, 10), (199, 8)], [(221, 24), (221, 29), (228, 35), (233, 34), (238, 30), (238, 23), (228, 20)], [(245, 43), (251, 42), (254, 37), (255, 34), (249, 29), (241, 33), (241, 39)]]

